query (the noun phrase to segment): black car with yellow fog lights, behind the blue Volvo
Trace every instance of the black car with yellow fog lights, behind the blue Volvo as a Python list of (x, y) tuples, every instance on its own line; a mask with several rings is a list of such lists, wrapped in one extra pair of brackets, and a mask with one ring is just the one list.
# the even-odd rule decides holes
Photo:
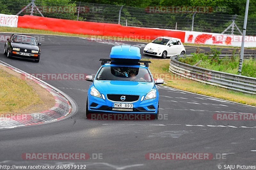
[(4, 44), (4, 54), (7, 57), (15, 57), (21, 59), (34, 60), (39, 62), (41, 50), (36, 39), (30, 35), (12, 34)]

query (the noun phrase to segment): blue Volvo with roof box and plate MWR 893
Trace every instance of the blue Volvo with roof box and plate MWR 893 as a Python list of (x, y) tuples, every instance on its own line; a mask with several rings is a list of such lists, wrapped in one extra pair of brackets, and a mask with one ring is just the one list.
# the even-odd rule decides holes
[[(104, 114), (147, 114), (155, 119), (159, 116), (159, 93), (157, 84), (149, 71), (150, 61), (141, 60), (140, 48), (114, 46), (110, 59), (100, 59), (101, 67), (88, 89), (86, 116)], [(142, 63), (142, 64), (140, 64)]]

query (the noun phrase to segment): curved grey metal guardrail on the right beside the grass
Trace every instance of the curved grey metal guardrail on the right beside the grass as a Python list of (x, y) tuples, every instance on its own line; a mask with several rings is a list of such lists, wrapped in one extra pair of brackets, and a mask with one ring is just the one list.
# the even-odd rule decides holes
[[(191, 80), (244, 93), (256, 94), (256, 78), (209, 70), (202, 67), (192, 66), (177, 60), (178, 57), (186, 56), (192, 56), (192, 54), (172, 56), (169, 70), (174, 74), (178, 74)], [(220, 56), (223, 57), (227, 55), (221, 54)]]

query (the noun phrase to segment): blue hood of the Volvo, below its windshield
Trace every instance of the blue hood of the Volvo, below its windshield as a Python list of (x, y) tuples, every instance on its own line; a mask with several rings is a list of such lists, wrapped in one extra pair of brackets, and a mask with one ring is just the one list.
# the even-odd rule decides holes
[(95, 80), (93, 84), (100, 92), (111, 91), (116, 94), (123, 92), (136, 92), (147, 94), (154, 87), (154, 82), (138, 82), (138, 81), (109, 81)]

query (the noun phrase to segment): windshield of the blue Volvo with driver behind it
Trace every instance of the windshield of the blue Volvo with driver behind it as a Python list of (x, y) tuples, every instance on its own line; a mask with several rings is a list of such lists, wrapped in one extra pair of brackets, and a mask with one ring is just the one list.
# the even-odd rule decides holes
[(152, 82), (148, 69), (142, 67), (102, 67), (97, 80)]

